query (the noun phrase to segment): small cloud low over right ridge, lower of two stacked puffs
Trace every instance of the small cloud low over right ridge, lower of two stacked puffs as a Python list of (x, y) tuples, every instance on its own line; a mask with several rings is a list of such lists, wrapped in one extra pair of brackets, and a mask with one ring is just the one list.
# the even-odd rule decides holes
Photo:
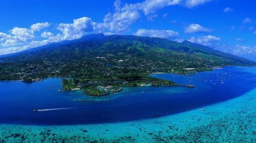
[(201, 37), (191, 37), (188, 41), (197, 44), (203, 44), (204, 46), (210, 46), (212, 43), (219, 42), (221, 40), (220, 37), (208, 35), (208, 36), (201, 36)]

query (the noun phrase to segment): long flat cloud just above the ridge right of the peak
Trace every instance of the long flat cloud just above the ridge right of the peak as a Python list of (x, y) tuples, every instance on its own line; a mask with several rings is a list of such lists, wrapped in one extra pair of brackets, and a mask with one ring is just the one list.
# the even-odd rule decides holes
[(165, 39), (175, 39), (179, 36), (178, 32), (171, 30), (139, 29), (136, 36), (161, 37)]

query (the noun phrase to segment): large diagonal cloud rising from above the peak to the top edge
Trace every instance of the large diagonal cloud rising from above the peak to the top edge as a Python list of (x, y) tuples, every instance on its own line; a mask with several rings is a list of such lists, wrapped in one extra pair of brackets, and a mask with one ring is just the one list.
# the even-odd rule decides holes
[(104, 16), (103, 22), (94, 24), (96, 32), (124, 33), (134, 22), (139, 21), (141, 13), (152, 21), (157, 17), (157, 10), (171, 5), (185, 5), (193, 7), (211, 0), (145, 0), (139, 3), (125, 3), (121, 5), (120, 0), (114, 2), (115, 11)]

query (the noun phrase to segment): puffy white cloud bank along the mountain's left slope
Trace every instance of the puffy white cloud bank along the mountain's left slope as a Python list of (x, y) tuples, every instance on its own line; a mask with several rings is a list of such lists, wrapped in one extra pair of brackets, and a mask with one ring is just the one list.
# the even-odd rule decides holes
[[(30, 28), (15, 27), (9, 31), (10, 34), (0, 32), (0, 40), (4, 41), (2, 46), (6, 46), (6, 48), (0, 49), (0, 54), (10, 54), (29, 48), (43, 46), (52, 42), (76, 39), (83, 36), (87, 31), (92, 31), (92, 24), (93, 22), (91, 21), (91, 18), (88, 17), (75, 19), (72, 24), (59, 24), (57, 29), (59, 29), (62, 34), (57, 33), (57, 35), (53, 35), (51, 32), (43, 32), (41, 33), (41, 37), (46, 37), (48, 39), (41, 41), (34, 40), (34, 32), (49, 27), (50, 24), (48, 22), (33, 24)], [(13, 45), (23, 46), (9, 47)]]

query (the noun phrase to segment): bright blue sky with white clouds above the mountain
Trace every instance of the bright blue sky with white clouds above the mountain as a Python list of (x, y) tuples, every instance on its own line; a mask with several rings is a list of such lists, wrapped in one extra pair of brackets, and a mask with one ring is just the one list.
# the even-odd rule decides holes
[(0, 55), (92, 33), (162, 37), (256, 61), (255, 0), (1, 0)]

